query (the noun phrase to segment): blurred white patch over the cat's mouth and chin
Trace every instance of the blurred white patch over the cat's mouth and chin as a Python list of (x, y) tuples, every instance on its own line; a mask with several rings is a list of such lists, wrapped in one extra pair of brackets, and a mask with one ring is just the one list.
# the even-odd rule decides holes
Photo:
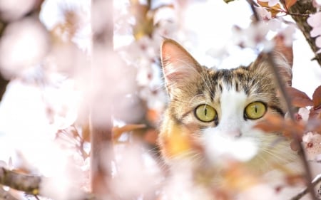
[(205, 155), (213, 164), (226, 161), (248, 162), (259, 153), (260, 144), (255, 137), (235, 137), (212, 128), (203, 130), (202, 135)]

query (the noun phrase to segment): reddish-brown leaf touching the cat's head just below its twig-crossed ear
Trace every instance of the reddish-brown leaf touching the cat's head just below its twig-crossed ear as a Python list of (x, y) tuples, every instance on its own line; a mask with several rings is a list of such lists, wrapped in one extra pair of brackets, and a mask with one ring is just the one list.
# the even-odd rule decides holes
[(300, 90), (292, 87), (287, 87), (287, 94), (290, 95), (292, 105), (295, 107), (306, 107), (309, 105), (313, 105), (313, 102), (309, 98), (309, 96), (307, 96), (307, 94), (303, 93)]

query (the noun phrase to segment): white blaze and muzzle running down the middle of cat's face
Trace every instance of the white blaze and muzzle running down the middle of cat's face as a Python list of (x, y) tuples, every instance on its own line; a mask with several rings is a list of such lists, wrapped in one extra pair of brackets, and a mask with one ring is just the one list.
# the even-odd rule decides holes
[(248, 97), (235, 88), (228, 90), (226, 85), (223, 88), (218, 126), (203, 131), (205, 152), (214, 162), (222, 158), (246, 162), (255, 157), (259, 149), (258, 139), (253, 137), (257, 135), (252, 130), (253, 122), (244, 119)]

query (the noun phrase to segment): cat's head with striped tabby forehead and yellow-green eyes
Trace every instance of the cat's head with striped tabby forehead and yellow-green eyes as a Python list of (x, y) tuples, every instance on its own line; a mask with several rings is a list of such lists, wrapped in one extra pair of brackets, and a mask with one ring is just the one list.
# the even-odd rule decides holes
[[(276, 38), (272, 58), (283, 84), (290, 85), (292, 48)], [(216, 70), (203, 67), (178, 43), (165, 39), (161, 62), (170, 98), (159, 137), (165, 159), (195, 149), (211, 151), (218, 146), (211, 142), (218, 138), (248, 138), (258, 149), (275, 142), (277, 135), (253, 131), (267, 113), (286, 112), (265, 53), (247, 67)]]

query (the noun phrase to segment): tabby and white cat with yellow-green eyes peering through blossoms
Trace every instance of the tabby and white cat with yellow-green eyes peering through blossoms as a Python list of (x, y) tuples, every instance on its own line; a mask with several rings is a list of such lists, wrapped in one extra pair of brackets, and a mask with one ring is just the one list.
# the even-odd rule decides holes
[[(271, 55), (283, 86), (290, 86), (292, 47), (276, 37)], [(290, 177), (302, 175), (289, 138), (253, 128), (267, 115), (287, 112), (269, 59), (261, 53), (249, 66), (206, 68), (179, 43), (164, 39), (161, 63), (169, 103), (158, 143), (175, 182), (167, 199), (250, 200), (258, 186), (269, 194), (254, 199), (277, 199)], [(225, 142), (232, 151), (222, 150)]]

